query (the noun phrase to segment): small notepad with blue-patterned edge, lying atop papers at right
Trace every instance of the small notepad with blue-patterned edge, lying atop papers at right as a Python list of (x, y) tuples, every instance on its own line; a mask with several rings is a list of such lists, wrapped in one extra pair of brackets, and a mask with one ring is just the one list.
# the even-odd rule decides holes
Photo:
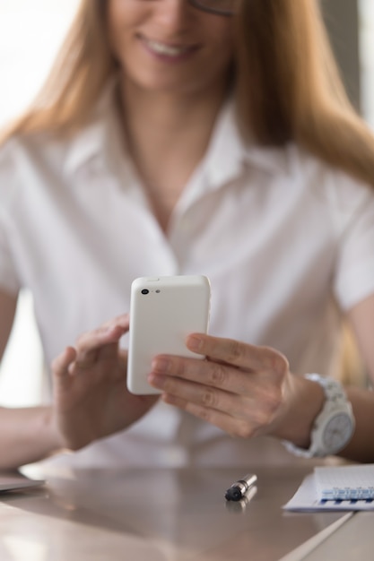
[(319, 500), (374, 501), (374, 464), (317, 467), (314, 476)]

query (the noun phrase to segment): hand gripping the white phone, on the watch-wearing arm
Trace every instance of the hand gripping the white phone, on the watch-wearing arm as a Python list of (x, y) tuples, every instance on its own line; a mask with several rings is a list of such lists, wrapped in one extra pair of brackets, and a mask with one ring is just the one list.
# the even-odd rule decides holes
[(287, 359), (269, 347), (192, 334), (187, 348), (205, 359), (159, 355), (148, 381), (162, 399), (248, 438), (274, 434), (286, 413), (292, 378)]

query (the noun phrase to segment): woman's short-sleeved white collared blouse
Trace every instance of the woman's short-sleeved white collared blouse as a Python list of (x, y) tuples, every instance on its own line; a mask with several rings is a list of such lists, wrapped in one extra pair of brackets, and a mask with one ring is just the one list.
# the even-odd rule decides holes
[[(129, 309), (139, 276), (207, 275), (210, 332), (280, 350), (291, 371), (328, 374), (341, 315), (374, 293), (374, 190), (294, 144), (245, 145), (230, 104), (161, 231), (111, 92), (73, 141), (0, 151), (0, 287), (31, 290), (46, 361)], [(123, 340), (126, 347), (126, 336)], [(66, 456), (77, 465), (253, 465), (290, 456), (169, 405)]]

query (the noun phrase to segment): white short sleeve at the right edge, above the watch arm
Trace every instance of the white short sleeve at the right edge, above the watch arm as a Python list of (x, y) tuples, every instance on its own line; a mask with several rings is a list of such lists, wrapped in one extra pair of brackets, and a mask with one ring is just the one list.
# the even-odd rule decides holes
[(349, 310), (374, 294), (374, 187), (345, 179), (336, 205), (340, 225), (335, 298)]

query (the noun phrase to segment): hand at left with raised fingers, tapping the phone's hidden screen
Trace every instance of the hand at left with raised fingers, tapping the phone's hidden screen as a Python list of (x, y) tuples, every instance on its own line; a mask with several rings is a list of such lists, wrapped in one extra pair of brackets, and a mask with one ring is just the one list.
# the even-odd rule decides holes
[(158, 400), (126, 388), (127, 353), (118, 343), (128, 315), (86, 332), (52, 364), (53, 423), (61, 447), (77, 450), (134, 423)]

